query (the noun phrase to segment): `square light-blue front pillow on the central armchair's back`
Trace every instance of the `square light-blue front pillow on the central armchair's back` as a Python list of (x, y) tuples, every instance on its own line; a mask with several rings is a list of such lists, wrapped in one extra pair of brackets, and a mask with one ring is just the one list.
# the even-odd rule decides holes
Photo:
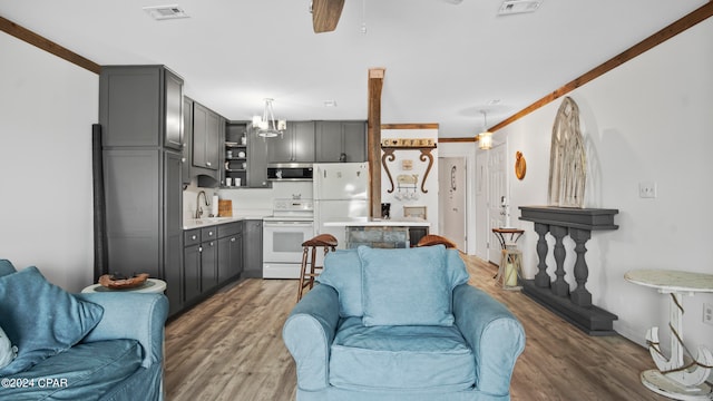
[(365, 326), (453, 324), (443, 245), (358, 251)]

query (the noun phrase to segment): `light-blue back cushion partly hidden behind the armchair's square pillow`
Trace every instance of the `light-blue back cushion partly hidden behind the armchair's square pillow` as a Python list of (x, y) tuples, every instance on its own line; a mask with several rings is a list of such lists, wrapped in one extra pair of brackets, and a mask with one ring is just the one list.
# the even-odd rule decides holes
[(324, 271), (316, 281), (336, 290), (339, 315), (361, 316), (361, 258), (356, 250), (336, 250), (324, 256)]

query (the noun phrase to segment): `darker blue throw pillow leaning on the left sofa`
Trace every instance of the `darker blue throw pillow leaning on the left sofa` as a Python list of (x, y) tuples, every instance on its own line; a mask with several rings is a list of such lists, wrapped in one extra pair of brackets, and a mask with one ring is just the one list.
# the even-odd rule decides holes
[(35, 266), (0, 277), (0, 325), (18, 348), (0, 376), (69, 349), (97, 325), (102, 312), (46, 281)]

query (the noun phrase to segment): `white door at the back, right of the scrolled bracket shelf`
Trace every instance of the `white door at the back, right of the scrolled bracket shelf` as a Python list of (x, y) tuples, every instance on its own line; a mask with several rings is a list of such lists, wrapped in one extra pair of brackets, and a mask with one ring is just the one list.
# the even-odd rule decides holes
[(466, 247), (466, 158), (439, 157), (440, 235), (451, 239), (460, 251)]

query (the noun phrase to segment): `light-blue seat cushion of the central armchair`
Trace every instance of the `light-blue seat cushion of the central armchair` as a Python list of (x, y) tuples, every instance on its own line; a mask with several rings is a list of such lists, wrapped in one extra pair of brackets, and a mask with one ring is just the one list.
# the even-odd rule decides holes
[(472, 351), (457, 326), (364, 326), (345, 319), (331, 348), (330, 384), (352, 390), (467, 390)]

